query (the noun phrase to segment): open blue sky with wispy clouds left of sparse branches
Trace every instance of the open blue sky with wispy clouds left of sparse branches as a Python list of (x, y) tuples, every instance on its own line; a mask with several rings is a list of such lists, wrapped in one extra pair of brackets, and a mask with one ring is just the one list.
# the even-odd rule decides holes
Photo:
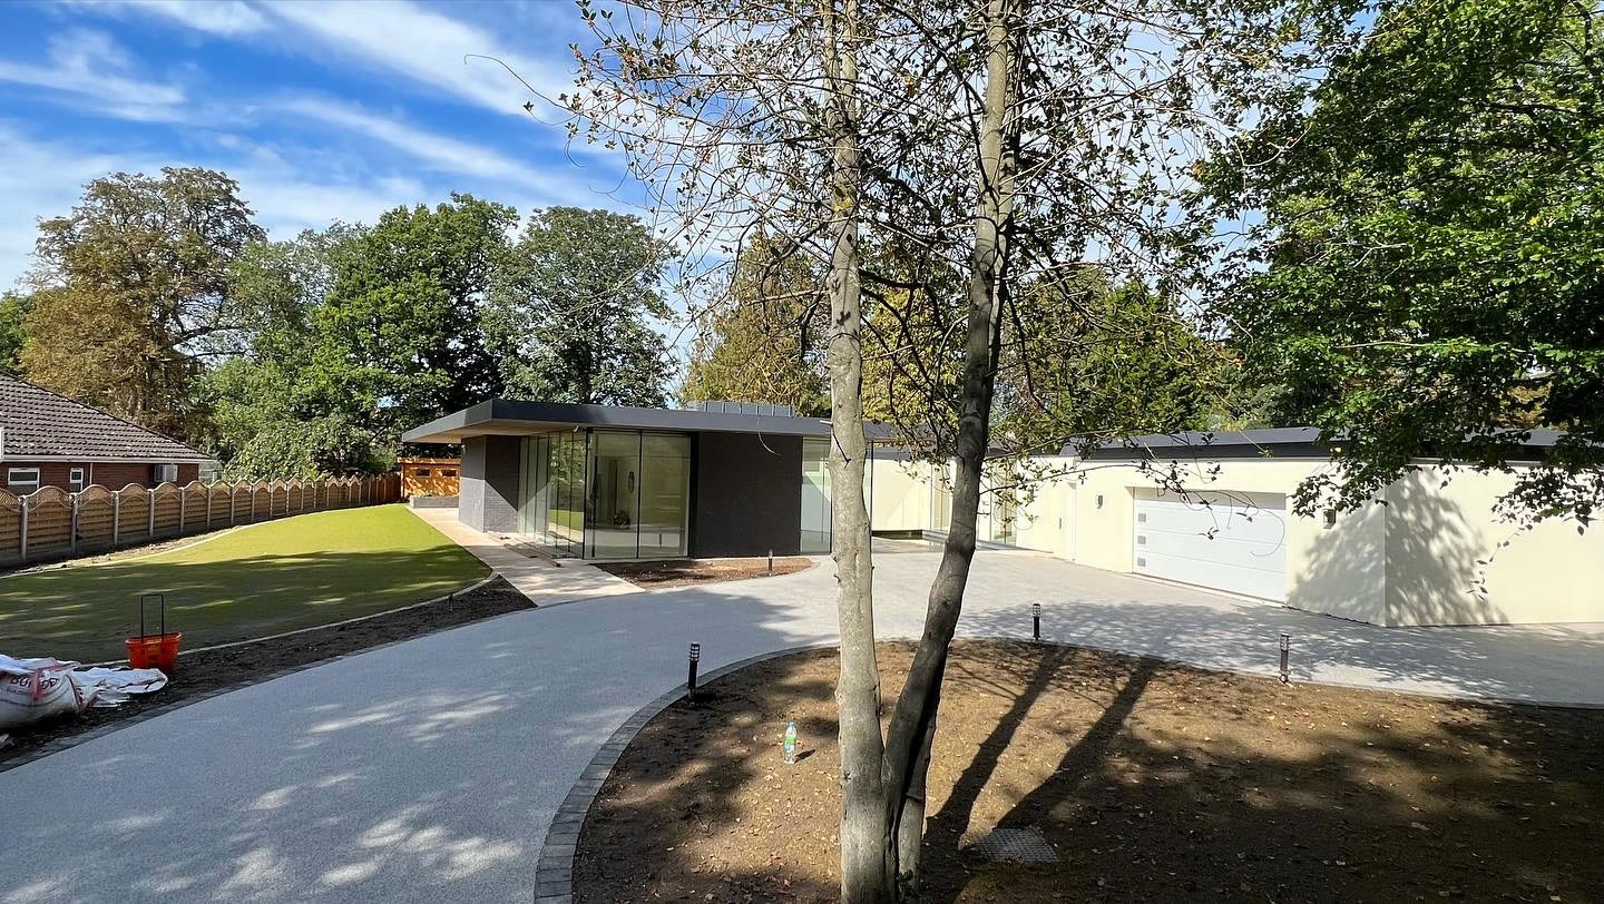
[(452, 191), (520, 213), (635, 200), (618, 157), (569, 147), (504, 69), (464, 61), (568, 90), (585, 34), (568, 0), (13, 2), (0, 34), (0, 289), (38, 218), (117, 170), (225, 170), (274, 239)]

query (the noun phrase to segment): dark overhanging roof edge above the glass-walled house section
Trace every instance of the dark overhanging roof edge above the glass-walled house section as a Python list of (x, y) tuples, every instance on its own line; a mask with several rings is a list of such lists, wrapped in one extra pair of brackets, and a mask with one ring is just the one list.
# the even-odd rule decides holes
[[(541, 433), (563, 428), (662, 430), (675, 433), (767, 433), (770, 436), (829, 436), (829, 420), (703, 412), (691, 409), (640, 409), (629, 406), (587, 406), (576, 402), (529, 402), (489, 399), (451, 412), (401, 434), (403, 442), (460, 442), (468, 436)], [(889, 439), (892, 428), (866, 423), (871, 441)]]

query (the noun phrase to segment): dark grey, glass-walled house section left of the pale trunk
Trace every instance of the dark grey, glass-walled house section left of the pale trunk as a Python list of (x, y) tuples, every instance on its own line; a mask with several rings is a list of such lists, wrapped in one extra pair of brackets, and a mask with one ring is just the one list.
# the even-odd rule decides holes
[(829, 551), (828, 436), (829, 422), (783, 406), (491, 399), (401, 439), (462, 444), (457, 518), (470, 527), (653, 559)]

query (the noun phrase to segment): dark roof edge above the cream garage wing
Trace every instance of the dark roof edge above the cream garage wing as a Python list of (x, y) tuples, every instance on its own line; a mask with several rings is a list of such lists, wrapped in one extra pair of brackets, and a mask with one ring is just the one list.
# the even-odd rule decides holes
[[(1509, 430), (1511, 439), (1519, 439), (1532, 457), (1554, 446), (1564, 431), (1559, 430)], [(1343, 436), (1338, 434), (1336, 442)], [(1078, 455), (1079, 446), (1068, 444), (1060, 455)], [(1096, 447), (1088, 458), (1330, 458), (1331, 447), (1320, 441), (1317, 426), (1275, 426), (1264, 430), (1189, 430), (1112, 439)]]

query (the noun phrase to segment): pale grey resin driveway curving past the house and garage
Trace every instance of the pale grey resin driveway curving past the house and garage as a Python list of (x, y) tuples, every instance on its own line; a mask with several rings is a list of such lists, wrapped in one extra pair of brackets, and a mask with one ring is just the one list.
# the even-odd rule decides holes
[[(882, 636), (916, 635), (935, 561), (876, 558)], [(528, 902), (552, 811), (687, 644), (712, 670), (831, 641), (832, 588), (824, 563), (516, 612), (0, 773), (0, 901)], [(1033, 553), (977, 556), (961, 633), (1028, 636), (1031, 601), (1052, 640), (1269, 675), (1285, 630), (1299, 680), (1604, 704), (1596, 625), (1381, 630)]]

